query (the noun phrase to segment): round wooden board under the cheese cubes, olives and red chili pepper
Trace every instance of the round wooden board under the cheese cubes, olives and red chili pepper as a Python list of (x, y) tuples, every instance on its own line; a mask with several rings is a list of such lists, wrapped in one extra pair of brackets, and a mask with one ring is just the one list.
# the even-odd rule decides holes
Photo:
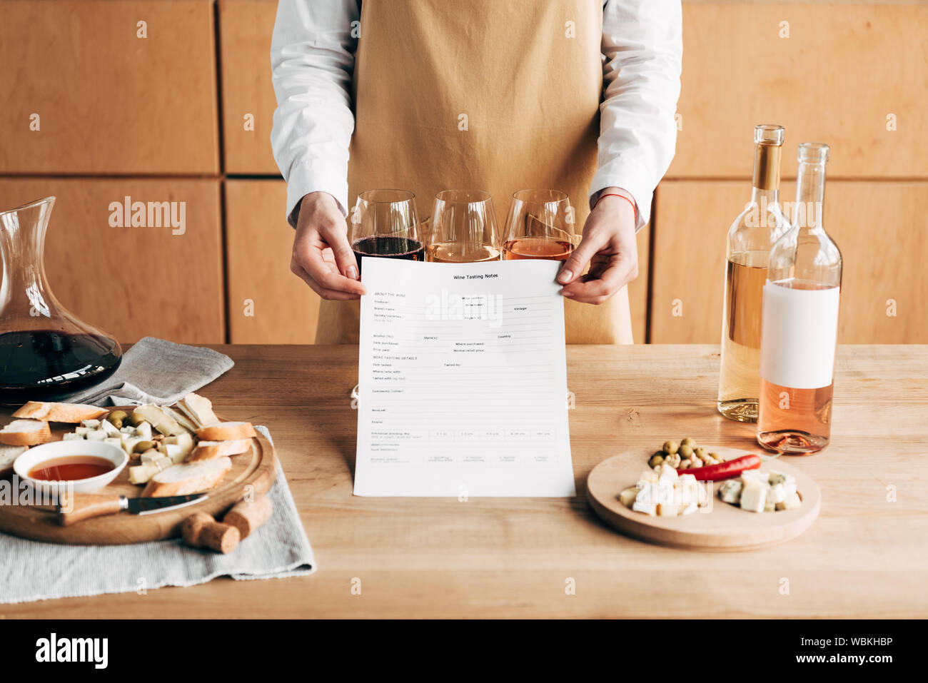
[[(727, 459), (749, 453), (734, 448), (709, 450)], [(651, 517), (626, 508), (618, 496), (625, 488), (634, 486), (641, 473), (648, 470), (648, 458), (652, 454), (653, 450), (641, 449), (610, 457), (593, 468), (586, 479), (590, 506), (604, 522), (625, 535), (674, 548), (750, 550), (795, 538), (818, 518), (821, 507), (818, 484), (783, 457), (766, 460), (760, 469), (780, 470), (796, 478), (796, 488), (803, 500), (802, 507), (797, 509), (756, 513), (736, 508), (719, 499), (717, 483), (712, 486), (712, 507), (690, 515)]]

